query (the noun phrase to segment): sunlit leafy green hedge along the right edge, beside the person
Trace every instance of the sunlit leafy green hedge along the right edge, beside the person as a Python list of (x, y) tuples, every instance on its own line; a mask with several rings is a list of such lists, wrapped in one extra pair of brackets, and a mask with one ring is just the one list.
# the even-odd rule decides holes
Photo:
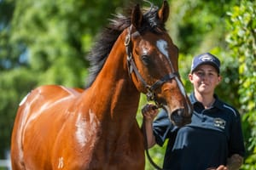
[(242, 0), (229, 13), (230, 34), (226, 40), (232, 55), (239, 58), (239, 102), (247, 157), (243, 169), (255, 169), (256, 163), (256, 3)]

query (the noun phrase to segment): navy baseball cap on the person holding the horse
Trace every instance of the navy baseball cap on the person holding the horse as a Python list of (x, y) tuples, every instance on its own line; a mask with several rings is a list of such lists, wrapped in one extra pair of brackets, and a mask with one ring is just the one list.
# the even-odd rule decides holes
[(195, 71), (199, 65), (212, 65), (219, 73), (220, 61), (210, 53), (195, 56), (192, 61), (191, 72)]

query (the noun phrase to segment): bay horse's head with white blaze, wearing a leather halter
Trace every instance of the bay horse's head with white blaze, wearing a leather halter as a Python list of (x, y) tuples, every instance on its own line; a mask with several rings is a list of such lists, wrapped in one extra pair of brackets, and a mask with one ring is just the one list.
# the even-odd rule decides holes
[(180, 127), (191, 121), (192, 106), (178, 73), (178, 48), (164, 28), (168, 15), (166, 1), (145, 14), (139, 5), (133, 8), (125, 33), (127, 67), (137, 90)]

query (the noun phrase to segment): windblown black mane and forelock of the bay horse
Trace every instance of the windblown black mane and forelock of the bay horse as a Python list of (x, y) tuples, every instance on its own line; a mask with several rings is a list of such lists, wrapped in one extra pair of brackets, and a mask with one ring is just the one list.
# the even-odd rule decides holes
[[(141, 33), (145, 30), (150, 31), (165, 31), (164, 23), (158, 19), (158, 7), (151, 4), (150, 8), (143, 8), (143, 23), (139, 30)], [(114, 42), (117, 40), (122, 31), (128, 26), (131, 26), (132, 8), (127, 8), (125, 14), (115, 14), (110, 24), (96, 38), (96, 43), (91, 49), (90, 54), (86, 57), (90, 62), (89, 77), (85, 88), (89, 88), (95, 81), (98, 73), (108, 58)]]

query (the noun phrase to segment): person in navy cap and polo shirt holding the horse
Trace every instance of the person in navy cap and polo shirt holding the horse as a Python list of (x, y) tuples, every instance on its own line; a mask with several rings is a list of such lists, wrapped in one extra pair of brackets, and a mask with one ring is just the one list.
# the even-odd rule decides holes
[(210, 53), (193, 59), (189, 81), (194, 92), (189, 99), (194, 112), (188, 125), (175, 127), (166, 111), (158, 114), (154, 105), (143, 107), (148, 148), (154, 144), (162, 146), (169, 139), (164, 169), (230, 170), (241, 167), (245, 149), (240, 114), (214, 94), (221, 82), (219, 67), (219, 59)]

